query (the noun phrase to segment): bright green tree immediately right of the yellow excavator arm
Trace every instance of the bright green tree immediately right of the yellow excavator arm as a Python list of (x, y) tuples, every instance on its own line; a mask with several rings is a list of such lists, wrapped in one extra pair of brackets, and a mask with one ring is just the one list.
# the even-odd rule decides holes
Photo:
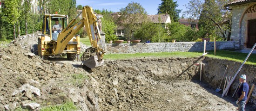
[(102, 31), (105, 32), (106, 42), (110, 40), (116, 40), (117, 37), (115, 36), (115, 29), (117, 26), (112, 17), (105, 15), (104, 18), (101, 19), (102, 21)]

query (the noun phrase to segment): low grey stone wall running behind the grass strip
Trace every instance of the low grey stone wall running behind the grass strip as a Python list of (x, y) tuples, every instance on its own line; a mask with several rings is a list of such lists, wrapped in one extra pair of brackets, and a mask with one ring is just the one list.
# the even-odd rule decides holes
[[(236, 42), (216, 42), (216, 49), (234, 49)], [(150, 52), (203, 52), (204, 42), (177, 43), (107, 43), (107, 54), (111, 53), (150, 53)], [(214, 50), (214, 42), (206, 42), (206, 50)]]

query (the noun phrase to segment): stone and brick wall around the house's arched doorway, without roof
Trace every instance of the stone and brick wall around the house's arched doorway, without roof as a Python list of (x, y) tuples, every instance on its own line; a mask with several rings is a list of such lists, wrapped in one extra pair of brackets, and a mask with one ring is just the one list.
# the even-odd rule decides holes
[(232, 6), (231, 40), (236, 41), (236, 49), (247, 47), (248, 20), (256, 19), (256, 12), (245, 13), (245, 11), (254, 4), (256, 2)]

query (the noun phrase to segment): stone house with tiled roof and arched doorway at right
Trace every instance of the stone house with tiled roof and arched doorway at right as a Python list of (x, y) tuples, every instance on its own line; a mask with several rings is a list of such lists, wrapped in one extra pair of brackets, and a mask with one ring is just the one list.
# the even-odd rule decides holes
[(225, 7), (232, 11), (230, 39), (235, 48), (252, 48), (256, 43), (256, 0), (235, 0)]

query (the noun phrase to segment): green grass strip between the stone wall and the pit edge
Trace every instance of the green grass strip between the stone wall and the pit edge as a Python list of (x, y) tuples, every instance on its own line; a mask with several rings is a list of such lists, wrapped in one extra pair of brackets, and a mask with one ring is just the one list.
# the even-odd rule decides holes
[[(216, 56), (213, 51), (209, 51), (206, 56), (226, 59), (230, 61), (243, 62), (248, 54), (228, 51), (228, 50), (217, 50)], [(104, 56), (106, 60), (122, 60), (132, 58), (143, 58), (143, 57), (199, 57), (202, 56), (202, 52), (159, 52), (159, 53), (135, 53), (135, 54), (107, 54)], [(256, 54), (251, 54), (245, 64), (256, 65)]]

